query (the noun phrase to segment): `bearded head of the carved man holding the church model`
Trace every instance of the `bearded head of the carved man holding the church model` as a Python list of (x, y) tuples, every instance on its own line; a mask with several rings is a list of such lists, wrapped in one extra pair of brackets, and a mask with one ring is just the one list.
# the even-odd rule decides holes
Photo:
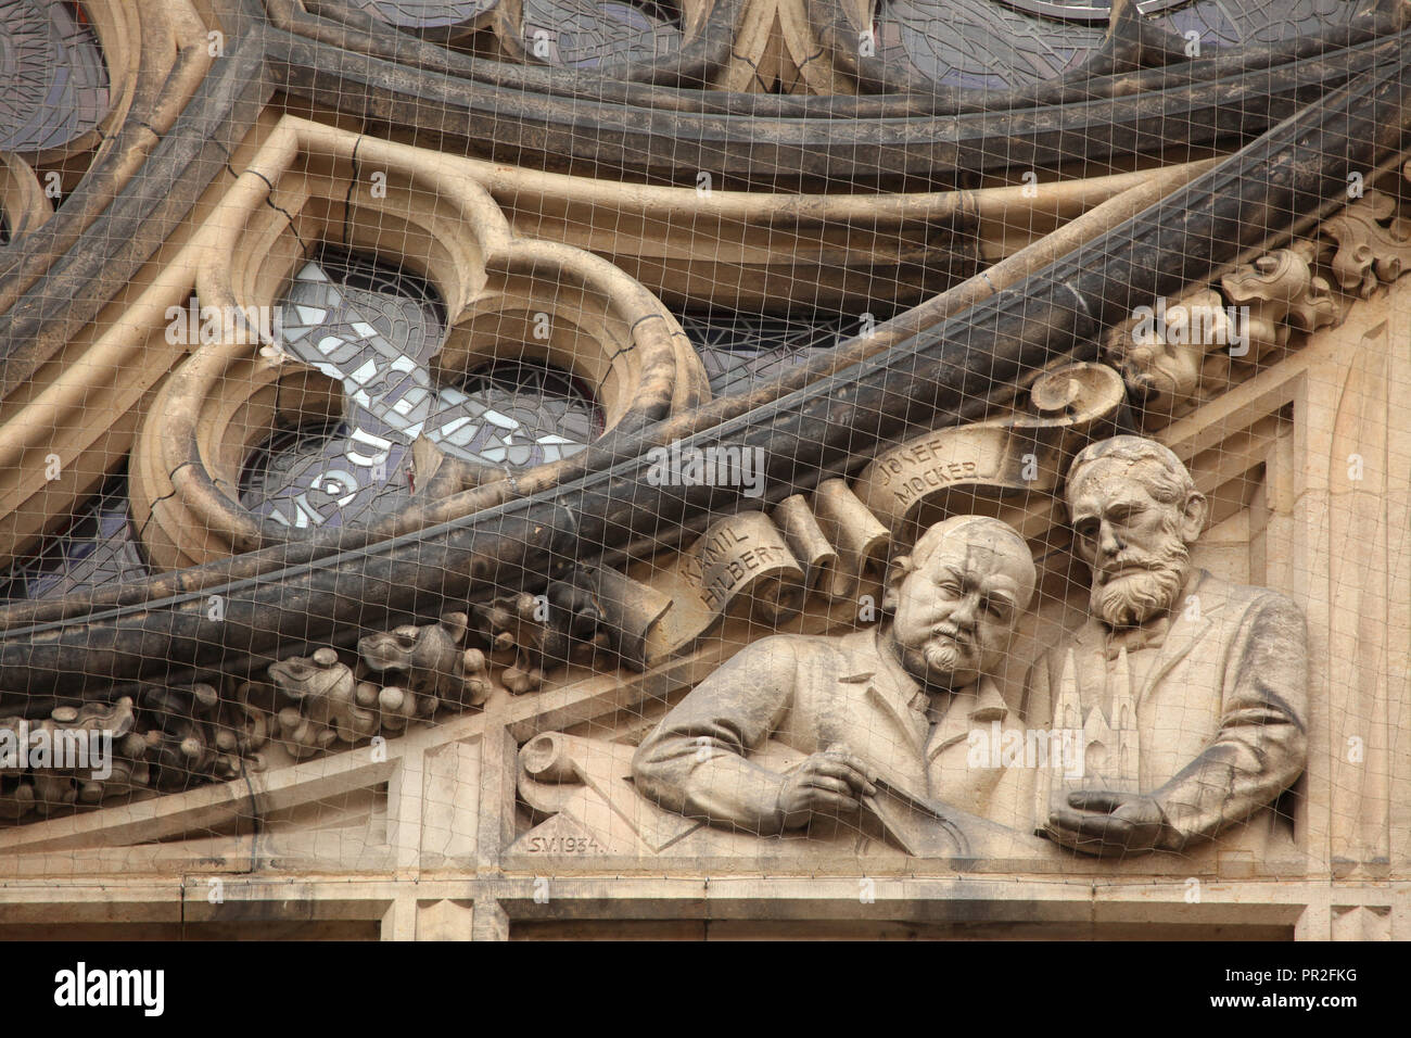
[(1092, 612), (1112, 627), (1170, 612), (1208, 514), (1181, 460), (1153, 439), (1113, 436), (1072, 459), (1067, 496)]

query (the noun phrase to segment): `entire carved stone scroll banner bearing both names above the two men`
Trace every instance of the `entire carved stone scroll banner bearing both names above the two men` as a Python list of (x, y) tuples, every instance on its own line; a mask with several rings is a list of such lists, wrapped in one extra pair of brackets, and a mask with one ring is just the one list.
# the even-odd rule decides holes
[(1091, 436), (1108, 435), (1125, 393), (1106, 364), (1067, 364), (1034, 383), (1031, 415), (940, 429), (879, 456), (854, 487), (830, 479), (769, 514), (720, 518), (674, 566), (645, 582), (595, 569), (594, 600), (624, 662), (645, 668), (727, 614), (751, 613), (773, 627), (811, 593), (856, 597), (866, 580), (882, 579), (893, 539), (914, 538), (952, 491), (1051, 494), (1068, 459)]

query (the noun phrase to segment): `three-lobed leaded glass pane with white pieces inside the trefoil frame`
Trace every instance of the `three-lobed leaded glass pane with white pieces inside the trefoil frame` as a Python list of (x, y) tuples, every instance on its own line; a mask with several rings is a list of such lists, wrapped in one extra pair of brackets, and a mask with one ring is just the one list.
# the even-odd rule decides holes
[(411, 448), (522, 469), (583, 451), (604, 429), (583, 380), (525, 357), (498, 357), (436, 386), (444, 308), (426, 281), (367, 256), (325, 247), (285, 294), (281, 342), (340, 383), (339, 421), (275, 431), (246, 460), (241, 504), (281, 525), (389, 514), (415, 493)]

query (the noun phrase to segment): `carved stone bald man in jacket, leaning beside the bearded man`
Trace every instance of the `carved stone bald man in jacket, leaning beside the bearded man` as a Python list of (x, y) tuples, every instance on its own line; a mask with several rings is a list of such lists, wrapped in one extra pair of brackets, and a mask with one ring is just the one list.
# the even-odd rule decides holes
[(983, 675), (1033, 589), (1033, 558), (1012, 527), (978, 515), (931, 527), (892, 565), (889, 620), (742, 650), (638, 747), (638, 789), (670, 811), (761, 835), (856, 812), (876, 778), (985, 813), (1002, 772), (969, 767), (967, 737), (1007, 716)]

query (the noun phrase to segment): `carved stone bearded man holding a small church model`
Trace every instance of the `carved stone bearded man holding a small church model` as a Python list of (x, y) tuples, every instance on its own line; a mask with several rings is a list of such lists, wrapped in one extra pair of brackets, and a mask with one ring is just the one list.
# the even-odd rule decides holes
[(1249, 825), (1307, 757), (1307, 634), (1283, 595), (1191, 563), (1208, 504), (1160, 443), (1118, 436), (1067, 480), (1089, 619), (1030, 675), (1030, 717), (1077, 732), (1085, 774), (1037, 798), (1038, 829), (1096, 854), (1185, 850)]

